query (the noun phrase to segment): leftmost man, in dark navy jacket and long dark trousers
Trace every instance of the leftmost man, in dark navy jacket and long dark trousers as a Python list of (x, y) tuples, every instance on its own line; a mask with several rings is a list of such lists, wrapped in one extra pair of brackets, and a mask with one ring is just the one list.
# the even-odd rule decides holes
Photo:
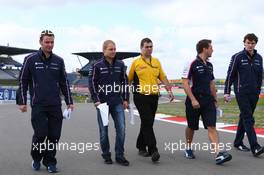
[(71, 91), (62, 58), (52, 52), (54, 34), (41, 32), (41, 48), (24, 60), (20, 76), (17, 104), (21, 112), (27, 112), (29, 87), (31, 124), (34, 130), (31, 145), (32, 169), (38, 171), (40, 162), (48, 172), (57, 172), (56, 144), (61, 136), (62, 111), (60, 92), (68, 108), (73, 110)]

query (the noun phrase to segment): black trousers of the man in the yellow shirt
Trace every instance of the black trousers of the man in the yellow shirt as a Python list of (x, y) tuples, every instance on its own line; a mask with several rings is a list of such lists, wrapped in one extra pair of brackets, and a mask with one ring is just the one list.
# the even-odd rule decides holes
[(158, 107), (158, 95), (134, 95), (134, 103), (141, 119), (140, 131), (137, 138), (137, 148), (153, 153), (157, 151), (157, 142), (153, 130), (155, 114)]

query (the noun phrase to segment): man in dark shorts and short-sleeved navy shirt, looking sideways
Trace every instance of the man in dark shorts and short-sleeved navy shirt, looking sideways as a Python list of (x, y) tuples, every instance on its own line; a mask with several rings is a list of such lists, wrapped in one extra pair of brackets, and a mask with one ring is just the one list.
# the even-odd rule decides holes
[[(199, 129), (199, 118), (205, 129), (208, 130), (208, 137), (215, 153), (216, 164), (220, 165), (230, 161), (232, 156), (225, 151), (219, 150), (219, 138), (216, 131), (216, 106), (217, 95), (214, 82), (213, 65), (209, 62), (212, 56), (212, 41), (203, 39), (196, 45), (196, 59), (186, 66), (183, 72), (183, 88), (187, 94), (185, 101), (187, 124), (185, 137), (187, 149), (185, 157), (194, 159), (192, 141), (194, 131)], [(190, 85), (192, 84), (192, 86)]]

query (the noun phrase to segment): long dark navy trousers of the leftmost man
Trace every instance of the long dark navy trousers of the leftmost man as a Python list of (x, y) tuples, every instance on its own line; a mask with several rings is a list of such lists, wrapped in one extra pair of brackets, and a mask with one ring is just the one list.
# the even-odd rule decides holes
[(61, 106), (33, 106), (31, 124), (34, 130), (31, 156), (34, 161), (42, 161), (45, 166), (56, 165), (56, 144), (61, 136)]

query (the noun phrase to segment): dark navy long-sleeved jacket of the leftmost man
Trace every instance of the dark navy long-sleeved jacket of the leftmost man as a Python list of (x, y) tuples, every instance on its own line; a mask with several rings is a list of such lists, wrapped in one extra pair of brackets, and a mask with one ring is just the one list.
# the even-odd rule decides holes
[(27, 104), (28, 87), (31, 106), (61, 105), (60, 92), (67, 105), (73, 104), (64, 61), (53, 53), (45, 58), (40, 49), (25, 57), (19, 76), (17, 104)]

